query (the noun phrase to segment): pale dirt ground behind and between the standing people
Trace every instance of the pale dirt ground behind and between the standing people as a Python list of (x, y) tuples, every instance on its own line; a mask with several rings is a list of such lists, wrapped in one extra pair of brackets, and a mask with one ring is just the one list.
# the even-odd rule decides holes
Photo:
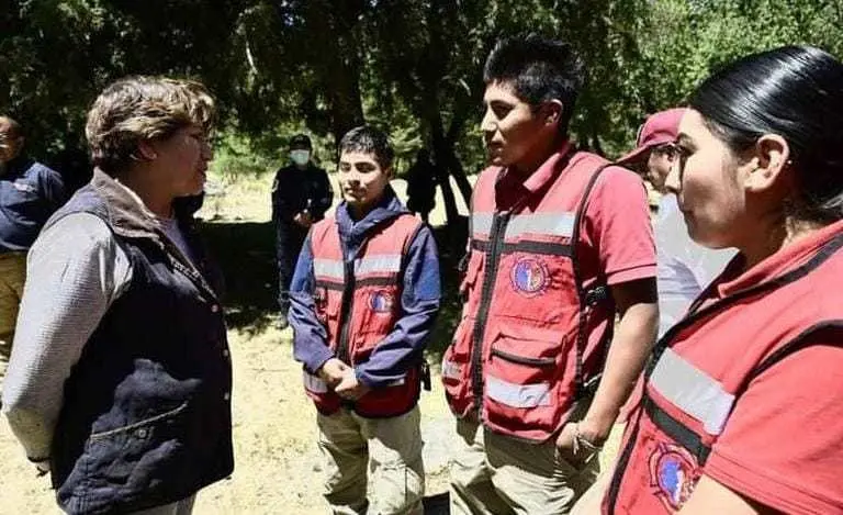
[[(226, 279), (233, 287), (229, 344), (234, 363), (235, 472), (198, 497), (194, 513), (293, 514), (326, 513), (321, 497), (319, 459), (315, 447), (315, 410), (302, 392), (301, 366), (293, 360), (291, 331), (272, 327), (273, 281), (269, 188), (271, 177), (248, 183), (217, 184), (204, 216), (224, 243), (220, 249)], [(403, 181), (396, 181), (403, 197)], [(439, 198), (438, 205), (441, 205)], [(460, 206), (464, 213), (464, 205)], [(440, 210), (431, 222), (443, 222)], [(216, 233), (213, 233), (216, 231)], [(220, 239), (222, 238), (222, 239)], [(255, 238), (254, 247), (249, 242)], [(247, 247), (247, 248), (243, 248)], [(248, 261), (247, 261), (248, 260)], [(443, 273), (449, 270), (443, 270)], [(241, 279), (241, 280), (240, 280)], [(451, 301), (449, 301), (451, 302)], [(458, 311), (456, 305), (449, 306)], [(453, 323), (452, 318), (445, 318)], [(438, 333), (447, 345), (448, 328)], [(437, 362), (438, 355), (430, 357)], [(435, 373), (437, 372), (437, 367)], [(423, 394), (427, 495), (447, 491), (451, 416), (437, 377)], [(617, 432), (616, 432), (617, 433)], [(606, 452), (604, 461), (614, 456)], [(3, 418), (0, 422), (0, 515), (58, 514), (46, 477), (37, 478)], [(441, 512), (437, 512), (441, 513)]]

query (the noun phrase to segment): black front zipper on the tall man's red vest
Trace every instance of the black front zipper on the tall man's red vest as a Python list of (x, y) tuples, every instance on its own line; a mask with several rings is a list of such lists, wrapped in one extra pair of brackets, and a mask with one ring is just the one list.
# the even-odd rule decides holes
[(497, 279), (498, 258), (504, 249), (504, 235), (506, 225), (509, 223), (509, 212), (504, 211), (495, 213), (492, 219), (492, 229), (490, 232), (491, 245), (486, 249), (486, 262), (488, 266), (483, 278), (483, 291), (480, 296), (480, 309), (477, 310), (477, 320), (474, 323), (474, 345), (471, 349), (471, 380), (473, 384), (474, 405), (477, 412), (482, 412), (483, 406), (483, 338), (485, 336), (486, 321), (492, 305), (492, 295), (495, 291)]

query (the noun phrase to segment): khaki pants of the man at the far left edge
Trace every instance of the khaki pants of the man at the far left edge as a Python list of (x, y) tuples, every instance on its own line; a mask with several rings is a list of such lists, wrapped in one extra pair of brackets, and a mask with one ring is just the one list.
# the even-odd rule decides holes
[(0, 392), (12, 355), (18, 309), (26, 279), (26, 253), (0, 254)]

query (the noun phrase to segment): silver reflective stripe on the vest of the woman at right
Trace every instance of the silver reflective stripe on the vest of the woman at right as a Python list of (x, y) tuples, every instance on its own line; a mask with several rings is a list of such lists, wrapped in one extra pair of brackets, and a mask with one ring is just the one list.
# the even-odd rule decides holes
[(665, 349), (650, 377), (650, 387), (676, 407), (702, 423), (709, 435), (723, 430), (734, 395), (719, 381)]

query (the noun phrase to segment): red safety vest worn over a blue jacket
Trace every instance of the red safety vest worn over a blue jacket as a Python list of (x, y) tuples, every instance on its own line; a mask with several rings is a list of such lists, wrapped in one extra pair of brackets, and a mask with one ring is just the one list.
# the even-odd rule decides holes
[[(316, 316), (337, 358), (355, 367), (366, 362), (402, 316), (404, 262), (422, 222), (401, 214), (367, 234), (357, 258), (346, 262), (334, 217), (313, 226), (311, 248), (315, 276)], [(317, 376), (304, 371), (304, 387), (316, 408), (335, 413), (344, 401)], [(349, 404), (369, 417), (397, 416), (416, 405), (419, 370), (411, 367), (394, 383), (374, 389)]]

